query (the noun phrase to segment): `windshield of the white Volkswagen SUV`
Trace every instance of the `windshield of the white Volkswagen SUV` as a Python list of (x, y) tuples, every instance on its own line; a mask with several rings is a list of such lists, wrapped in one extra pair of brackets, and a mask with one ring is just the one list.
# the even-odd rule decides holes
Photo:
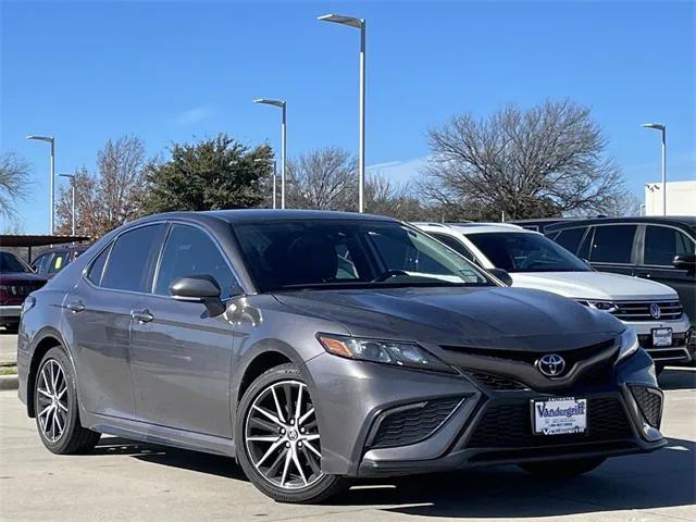
[(508, 272), (588, 272), (592, 269), (560, 245), (540, 234), (486, 232), (468, 234), (483, 254)]

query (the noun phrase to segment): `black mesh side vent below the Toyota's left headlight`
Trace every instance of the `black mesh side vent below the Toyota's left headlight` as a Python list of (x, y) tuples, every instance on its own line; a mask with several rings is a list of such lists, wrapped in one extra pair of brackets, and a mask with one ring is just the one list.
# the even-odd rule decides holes
[(423, 440), (445, 422), (461, 400), (462, 397), (448, 397), (428, 400), (415, 408), (398, 408), (382, 419), (370, 446), (386, 448)]

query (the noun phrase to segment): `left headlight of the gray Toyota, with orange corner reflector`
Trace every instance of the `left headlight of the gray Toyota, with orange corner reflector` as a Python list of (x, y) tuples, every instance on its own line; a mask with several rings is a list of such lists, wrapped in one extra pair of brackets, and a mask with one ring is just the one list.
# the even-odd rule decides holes
[(324, 349), (335, 356), (397, 366), (455, 373), (455, 371), (415, 343), (364, 339), (343, 335), (318, 334)]

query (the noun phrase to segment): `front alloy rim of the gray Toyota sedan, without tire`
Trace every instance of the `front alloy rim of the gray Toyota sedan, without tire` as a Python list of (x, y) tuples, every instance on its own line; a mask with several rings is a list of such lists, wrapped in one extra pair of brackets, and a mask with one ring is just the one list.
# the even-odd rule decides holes
[(245, 444), (256, 470), (273, 485), (298, 489), (319, 481), (319, 425), (307, 385), (282, 381), (266, 386), (249, 408)]

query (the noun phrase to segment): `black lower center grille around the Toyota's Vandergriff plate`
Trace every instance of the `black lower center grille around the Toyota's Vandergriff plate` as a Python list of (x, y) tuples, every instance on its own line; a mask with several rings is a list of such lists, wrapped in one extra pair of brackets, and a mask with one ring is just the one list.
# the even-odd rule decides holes
[(631, 437), (631, 426), (617, 398), (587, 400), (587, 430), (568, 435), (533, 435), (529, 401), (489, 406), (468, 446), (470, 448), (532, 448), (576, 443), (621, 440)]

